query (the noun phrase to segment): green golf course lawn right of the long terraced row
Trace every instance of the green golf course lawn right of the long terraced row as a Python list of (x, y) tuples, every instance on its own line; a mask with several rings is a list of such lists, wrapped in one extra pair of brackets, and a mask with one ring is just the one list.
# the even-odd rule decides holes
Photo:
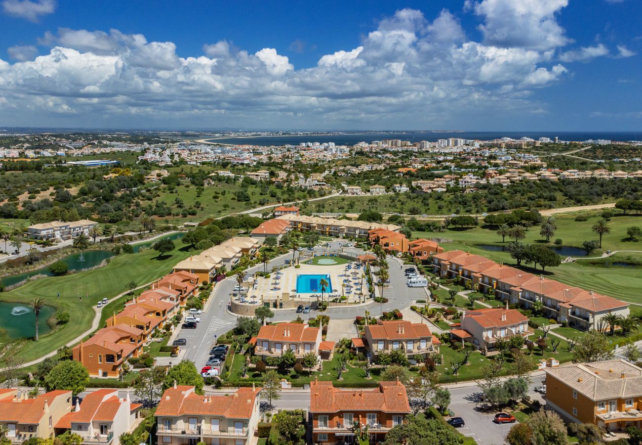
[[(600, 219), (599, 213), (594, 213), (588, 221), (575, 221), (575, 215), (557, 215), (558, 230), (551, 240), (562, 239), (562, 245), (581, 247), (582, 242), (597, 239), (597, 235), (591, 231), (591, 226)], [(641, 250), (642, 242), (628, 241), (627, 228), (630, 226), (642, 226), (642, 215), (616, 216), (611, 222), (611, 233), (603, 235), (602, 247), (604, 250)], [(483, 255), (496, 262), (503, 262), (508, 266), (516, 266), (515, 260), (505, 251), (490, 251), (480, 247), (482, 244), (502, 246), (501, 237), (496, 230), (476, 227), (469, 230), (447, 230), (446, 233), (414, 232), (413, 238), (444, 238), (446, 242), (440, 242), (446, 250), (465, 250), (477, 255)], [(537, 227), (532, 227), (526, 232), (524, 242), (544, 242), (539, 235)], [(553, 246), (553, 244), (551, 244)], [(599, 257), (601, 252), (594, 252), (591, 257)], [(625, 254), (622, 254), (625, 255)], [(627, 253), (634, 258), (641, 259), (635, 253)], [(614, 261), (622, 260), (623, 257), (614, 257)], [(591, 264), (594, 260), (577, 260), (574, 263), (561, 264), (557, 268), (547, 268), (546, 277), (559, 280), (571, 286), (578, 286), (584, 289), (593, 289), (598, 293), (621, 298), (627, 302), (642, 304), (642, 294), (639, 289), (642, 287), (642, 268), (625, 268), (611, 266), (602, 267), (600, 264)], [(523, 266), (525, 271), (541, 274), (541, 268), (535, 270)]]

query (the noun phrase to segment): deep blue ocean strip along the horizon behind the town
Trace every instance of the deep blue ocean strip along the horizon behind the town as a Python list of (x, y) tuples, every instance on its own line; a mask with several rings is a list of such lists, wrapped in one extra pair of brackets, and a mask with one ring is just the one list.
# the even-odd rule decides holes
[(247, 138), (213, 138), (212, 142), (227, 143), (231, 145), (299, 145), (305, 142), (334, 142), (336, 145), (354, 145), (361, 141), (370, 143), (384, 139), (401, 139), (404, 141), (437, 141), (438, 139), (462, 138), (472, 140), (493, 140), (497, 138), (519, 139), (523, 137), (551, 138), (555, 136), (562, 141), (586, 141), (589, 139), (606, 139), (613, 141), (630, 141), (642, 138), (642, 130), (639, 132), (552, 132), (552, 131), (462, 131), (462, 132), (383, 132), (383, 133), (354, 133), (354, 134), (333, 134), (320, 136), (252, 136)]

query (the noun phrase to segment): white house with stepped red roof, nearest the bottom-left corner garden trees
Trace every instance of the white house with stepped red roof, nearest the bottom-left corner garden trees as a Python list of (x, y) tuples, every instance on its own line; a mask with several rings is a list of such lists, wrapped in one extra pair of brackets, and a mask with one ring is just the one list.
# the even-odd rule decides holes
[(74, 412), (56, 422), (56, 430), (80, 435), (83, 444), (119, 445), (120, 436), (138, 424), (141, 404), (131, 403), (129, 393), (118, 397), (116, 389), (101, 389), (76, 401)]

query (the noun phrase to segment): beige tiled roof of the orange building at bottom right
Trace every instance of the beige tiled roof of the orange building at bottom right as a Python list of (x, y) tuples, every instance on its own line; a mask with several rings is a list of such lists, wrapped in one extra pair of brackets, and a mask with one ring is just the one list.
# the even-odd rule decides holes
[(569, 363), (544, 371), (594, 401), (642, 397), (642, 369), (625, 360)]

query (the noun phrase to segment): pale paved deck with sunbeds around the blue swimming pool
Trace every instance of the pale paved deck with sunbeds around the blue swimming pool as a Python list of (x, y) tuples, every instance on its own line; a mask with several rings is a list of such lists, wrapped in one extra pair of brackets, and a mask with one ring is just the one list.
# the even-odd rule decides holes
[[(257, 284), (256, 284), (256, 289), (253, 289), (250, 287), (250, 291), (248, 292), (248, 296), (256, 295), (257, 300), (261, 300), (261, 296), (263, 298), (268, 299), (268, 300), (273, 300), (277, 296), (281, 297), (282, 293), (290, 293), (290, 298), (293, 297), (293, 295), (297, 295), (296, 298), (301, 298), (301, 297), (309, 297), (310, 301), (316, 301), (317, 298), (312, 298), (312, 293), (302, 293), (302, 294), (297, 294), (297, 275), (329, 275), (330, 277), (330, 282), (332, 283), (333, 289), (330, 291), (328, 289), (324, 293), (324, 299), (327, 297), (328, 294), (336, 294), (341, 296), (342, 295), (342, 283), (343, 280), (345, 280), (348, 277), (340, 277), (339, 275), (343, 275), (343, 273), (349, 273), (351, 274), (349, 277), (350, 282), (354, 286), (357, 282), (361, 284), (361, 275), (363, 275), (363, 269), (350, 269), (349, 271), (345, 271), (345, 266), (346, 264), (336, 264), (333, 266), (313, 266), (311, 264), (301, 264), (301, 267), (299, 269), (294, 268), (293, 266), (290, 266), (289, 268), (281, 269), (282, 275), (281, 279), (279, 280), (279, 284), (277, 287), (280, 289), (275, 291), (272, 290), (275, 285), (275, 273), (272, 273), (270, 278), (266, 279), (263, 277), (257, 277)], [(358, 281), (354, 280), (352, 277), (352, 272), (358, 272), (356, 277), (358, 278)], [(365, 278), (363, 279), (363, 288), (367, 289), (367, 282)], [(354, 289), (354, 288), (353, 288)], [(321, 295), (320, 290), (317, 292), (318, 295)], [(367, 294), (367, 290), (364, 292)], [(352, 294), (345, 294), (345, 296), (348, 297), (348, 302), (358, 302), (359, 301), (359, 295), (356, 293), (356, 290), (353, 290)]]

